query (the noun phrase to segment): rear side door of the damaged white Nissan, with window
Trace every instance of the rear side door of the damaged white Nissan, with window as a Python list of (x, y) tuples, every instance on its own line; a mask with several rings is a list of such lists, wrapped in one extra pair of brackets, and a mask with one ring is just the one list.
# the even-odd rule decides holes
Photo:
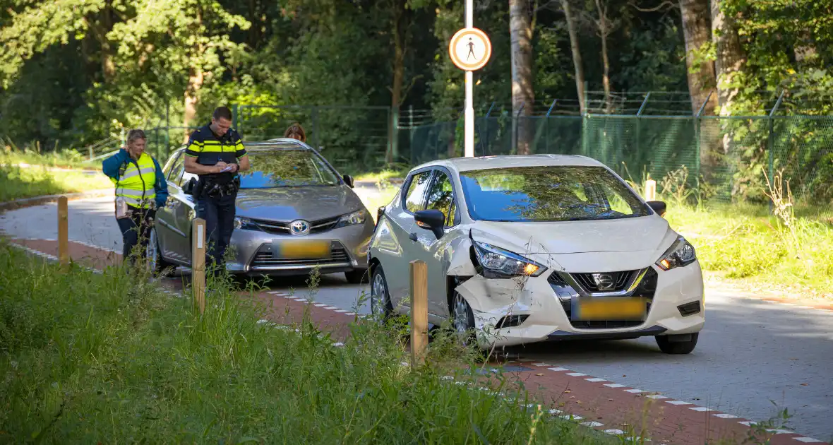
[(425, 207), (425, 195), (431, 180), (431, 170), (416, 171), (406, 179), (402, 185), (402, 193), (397, 199), (399, 203), (386, 211), (386, 218), (390, 221), (392, 238), (399, 240), (402, 254), (398, 258), (390, 258), (383, 263), (387, 288), (391, 295), (393, 308), (405, 313), (410, 308), (410, 298), (403, 301), (410, 293), (411, 272), (410, 263), (416, 259), (416, 240), (411, 238), (413, 233), (413, 213)]

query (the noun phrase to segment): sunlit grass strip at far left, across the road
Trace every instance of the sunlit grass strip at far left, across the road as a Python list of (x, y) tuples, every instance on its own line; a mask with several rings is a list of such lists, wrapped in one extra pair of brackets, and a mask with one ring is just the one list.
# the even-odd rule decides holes
[(62, 172), (0, 164), (0, 203), (56, 193), (112, 188), (102, 173)]

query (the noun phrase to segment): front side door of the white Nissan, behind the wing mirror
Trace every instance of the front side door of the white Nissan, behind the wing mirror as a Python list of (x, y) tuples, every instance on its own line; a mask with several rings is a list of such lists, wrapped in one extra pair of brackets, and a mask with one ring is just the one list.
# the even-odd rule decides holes
[[(430, 184), (423, 208), (439, 210), (446, 216), (447, 233), (460, 221), (456, 214), (456, 194), (451, 183), (451, 173), (445, 168), (436, 168)], [(446, 251), (451, 243), (450, 236), (437, 239), (433, 232), (416, 224), (412, 226), (412, 231), (416, 234), (413, 258), (424, 261), (428, 268), (428, 313), (436, 318), (446, 318), (449, 314), (446, 273), (451, 261)]]

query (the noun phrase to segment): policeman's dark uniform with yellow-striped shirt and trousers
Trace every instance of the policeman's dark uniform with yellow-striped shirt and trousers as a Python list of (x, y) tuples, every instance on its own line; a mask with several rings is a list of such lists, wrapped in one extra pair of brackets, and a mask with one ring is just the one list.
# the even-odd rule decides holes
[[(197, 163), (202, 165), (215, 165), (220, 161), (232, 164), (246, 156), (246, 149), (243, 148), (240, 135), (233, 128), (219, 137), (208, 124), (192, 133), (185, 155), (197, 158)], [(240, 177), (237, 173), (225, 172), (199, 175), (194, 189), (197, 218), (206, 222), (207, 259), (217, 265), (224, 264), (223, 256), (232, 240), (239, 187)]]

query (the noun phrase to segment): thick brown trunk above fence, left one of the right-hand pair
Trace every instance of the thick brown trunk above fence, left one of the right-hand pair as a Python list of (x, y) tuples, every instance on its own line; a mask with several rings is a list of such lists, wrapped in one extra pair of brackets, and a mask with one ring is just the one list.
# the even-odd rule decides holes
[(688, 68), (688, 91), (691, 94), (691, 113), (700, 111), (706, 104), (706, 114), (713, 114), (717, 109), (717, 96), (711, 94), (716, 87), (714, 62), (701, 62), (695, 66), (695, 52), (700, 51), (711, 42), (711, 16), (709, 0), (680, 0), (682, 15), (682, 32), (686, 39), (686, 67)]

